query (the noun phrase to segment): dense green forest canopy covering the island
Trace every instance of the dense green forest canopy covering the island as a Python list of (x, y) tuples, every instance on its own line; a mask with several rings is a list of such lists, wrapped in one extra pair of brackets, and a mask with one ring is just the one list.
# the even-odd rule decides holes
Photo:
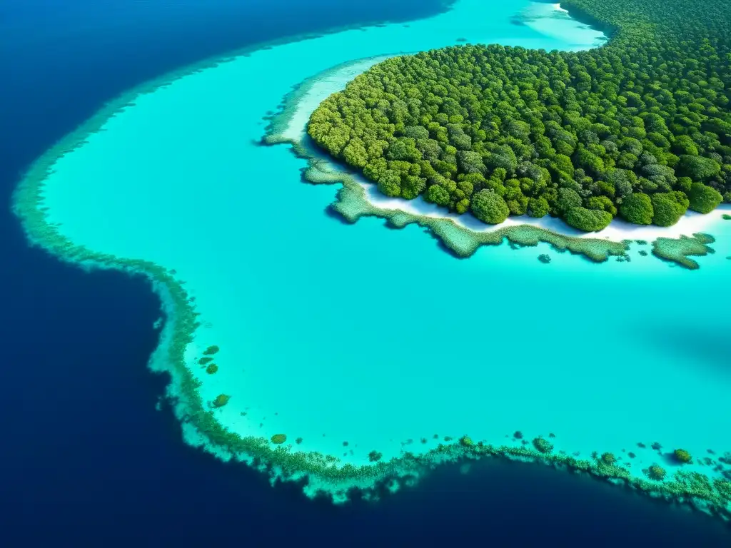
[(463, 45), (391, 58), (308, 133), (384, 194), (485, 223), (675, 224), (731, 202), (731, 2), (567, 0), (612, 36), (569, 53)]

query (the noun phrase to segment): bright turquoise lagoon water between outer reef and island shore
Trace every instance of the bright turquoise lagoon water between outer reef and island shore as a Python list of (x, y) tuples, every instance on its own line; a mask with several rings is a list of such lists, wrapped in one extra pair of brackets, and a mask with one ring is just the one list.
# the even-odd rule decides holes
[[(525, 24), (511, 22), (526, 9)], [(409, 26), (212, 64), (137, 96), (58, 159), (41, 205), (77, 244), (175, 269), (202, 323), (186, 357), (205, 400), (231, 396), (216, 416), (242, 435), (301, 437), (297, 449), (356, 464), (374, 449), (424, 452), (445, 435), (518, 445), (515, 430), (555, 433), (556, 449), (582, 457), (615, 452), (637, 473), (662, 463), (654, 441), (722, 453), (731, 221), (719, 213), (716, 254), (696, 271), (640, 256), (642, 246), (629, 263), (546, 245), (455, 259), (414, 225), (333, 218), (336, 186), (303, 184), (306, 161), (258, 144), (262, 118), (293, 86), (346, 61), (458, 39), (604, 42), (555, 15), (523, 0), (461, 0)], [(211, 344), (220, 369), (206, 375), (195, 360)]]

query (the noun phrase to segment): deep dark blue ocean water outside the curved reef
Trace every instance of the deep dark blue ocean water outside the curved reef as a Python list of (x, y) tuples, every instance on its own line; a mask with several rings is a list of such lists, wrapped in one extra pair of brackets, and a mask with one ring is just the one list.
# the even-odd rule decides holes
[[(430, 2), (90, 0), (0, 4), (0, 183), (124, 89), (216, 53)], [(308, 501), (294, 485), (183, 444), (148, 372), (159, 302), (142, 280), (30, 249), (0, 216), (0, 544), (19, 546), (728, 545), (708, 517), (531, 465), (454, 466), (377, 505)]]

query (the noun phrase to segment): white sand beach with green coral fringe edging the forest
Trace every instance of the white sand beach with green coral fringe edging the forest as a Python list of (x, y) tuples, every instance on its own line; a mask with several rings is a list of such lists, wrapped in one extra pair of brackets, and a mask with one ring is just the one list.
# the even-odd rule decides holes
[[(401, 53), (396, 55), (402, 55)], [(303, 128), (292, 127), (292, 121), (299, 114), (300, 102), (306, 99), (308, 91), (320, 80), (349, 71), (354, 66), (367, 64), (375, 59), (389, 56), (356, 59), (320, 72), (295, 86), (281, 102), (279, 112), (265, 118), (268, 125), (262, 137), (263, 145), (288, 144), (300, 158), (308, 161), (303, 178), (314, 184), (340, 183), (336, 201), (330, 206), (349, 223), (361, 217), (383, 218), (394, 228), (417, 224), (429, 229), (447, 250), (458, 257), (474, 254), (480, 246), (499, 245), (505, 239), (518, 246), (537, 246), (544, 242), (558, 251), (569, 250), (581, 254), (594, 262), (605, 262), (611, 256), (626, 259), (629, 244), (651, 241), (655, 256), (689, 269), (699, 267), (690, 256), (705, 256), (712, 253), (708, 244), (713, 243), (706, 230), (721, 221), (721, 215), (731, 212), (731, 205), (722, 205), (711, 213), (688, 212), (672, 227), (640, 226), (621, 219), (612, 221), (601, 232), (580, 232), (569, 227), (559, 218), (545, 216), (509, 217), (500, 225), (488, 225), (478, 221), (471, 214), (457, 215), (443, 208), (428, 204), (423, 197), (413, 200), (389, 198), (380, 194), (374, 183), (348, 167), (333, 161)]]

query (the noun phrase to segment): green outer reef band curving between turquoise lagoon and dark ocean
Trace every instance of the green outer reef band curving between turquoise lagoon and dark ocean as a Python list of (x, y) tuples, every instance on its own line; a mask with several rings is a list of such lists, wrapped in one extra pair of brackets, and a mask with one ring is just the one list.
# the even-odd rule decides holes
[[(304, 37), (303, 39), (306, 39)], [(295, 41), (287, 40), (289, 43)], [(281, 41), (279, 43), (282, 43)], [(156, 88), (169, 84), (185, 75), (211, 68), (217, 64), (232, 60), (239, 55), (246, 55), (251, 51), (262, 49), (262, 45), (250, 47), (238, 55), (227, 55), (221, 58), (202, 61), (199, 64), (185, 69), (171, 72), (156, 80), (143, 83), (137, 88), (126, 92), (105, 105), (96, 115), (83, 123), (74, 132), (68, 134), (56, 145), (37, 159), (23, 178), (20, 180), (13, 195), (13, 211), (20, 219), (23, 229), (32, 245), (40, 246), (65, 262), (79, 265), (86, 270), (94, 268), (115, 269), (131, 275), (144, 275), (151, 281), (154, 292), (162, 300), (162, 308), (166, 321), (162, 330), (160, 343), (151, 356), (149, 368), (156, 372), (170, 373), (170, 384), (167, 387), (167, 396), (173, 404), (175, 415), (183, 425), (186, 441), (194, 445), (205, 446), (209, 452), (224, 460), (239, 460), (267, 471), (273, 481), (308, 479), (306, 492), (311, 495), (317, 492), (327, 492), (333, 501), (344, 501), (348, 498), (348, 490), (359, 487), (366, 498), (377, 496), (382, 487), (390, 486), (395, 490), (401, 482), (409, 484), (428, 469), (439, 463), (454, 462), (461, 459), (479, 459), (482, 457), (505, 457), (512, 460), (523, 460), (545, 463), (556, 468), (567, 468), (570, 471), (590, 473), (592, 476), (607, 479), (635, 490), (641, 490), (655, 497), (667, 501), (690, 503), (692, 506), (715, 514), (716, 516), (731, 519), (729, 504), (731, 502), (731, 484), (722, 479), (709, 479), (698, 473), (678, 472), (672, 480), (654, 482), (638, 476), (632, 476), (629, 469), (618, 465), (607, 465), (600, 459), (577, 460), (564, 454), (553, 454), (542, 450), (526, 447), (493, 446), (484, 442), (472, 442), (466, 436), (451, 444), (439, 444), (425, 454), (416, 455), (406, 452), (402, 457), (395, 457), (387, 463), (372, 463), (355, 466), (346, 464), (338, 466), (338, 459), (330, 455), (316, 452), (292, 452), (292, 446), (273, 446), (266, 438), (254, 436), (242, 437), (223, 427), (217, 420), (211, 406), (204, 403), (198, 391), (201, 382), (192, 372), (192, 363), (186, 361), (184, 353), (187, 346), (193, 341), (193, 334), (199, 327), (193, 300), (184, 288), (184, 281), (175, 277), (175, 270), (169, 270), (154, 262), (143, 259), (126, 259), (110, 254), (92, 251), (85, 246), (79, 246), (62, 235), (58, 230), (60, 225), (48, 221), (47, 210), (44, 205), (43, 189), (48, 175), (53, 172), (54, 164), (62, 156), (75, 151), (86, 142), (89, 135), (99, 132), (102, 126), (115, 114), (134, 104), (135, 98), (142, 94), (154, 91)], [(286, 109), (285, 109), (286, 110)], [(273, 124), (273, 126), (276, 124)], [(303, 147), (294, 145), (295, 150), (305, 154)], [(311, 171), (325, 173), (317, 169), (317, 161), (313, 161)], [(315, 178), (312, 175), (312, 178)], [(355, 183), (354, 183), (355, 184)], [(346, 187), (344, 187), (346, 189)], [(352, 196), (357, 200), (363, 199), (363, 189), (360, 186), (351, 189)], [(345, 190), (347, 192), (347, 190)], [(343, 191), (341, 191), (341, 194)], [(346, 198), (346, 197), (345, 197)], [(347, 213), (346, 199), (341, 199), (344, 214)], [(379, 213), (374, 209), (374, 213)], [(363, 215), (360, 212), (360, 215)], [(409, 219), (408, 216), (399, 218), (393, 215), (390, 222), (394, 226), (408, 222), (424, 223), (435, 234), (440, 235), (450, 230), (447, 221), (430, 224), (428, 220)], [(532, 228), (532, 227), (531, 227)], [(545, 231), (542, 231), (545, 232)], [(555, 246), (564, 245), (571, 251), (587, 253), (587, 250), (572, 248), (569, 238), (561, 235), (548, 236), (543, 233), (521, 232), (510, 230), (505, 237), (515, 238), (521, 243), (532, 242), (534, 239), (550, 238)], [(510, 236), (508, 236), (508, 234)], [(453, 241), (452, 238), (450, 241)], [(583, 240), (586, 242), (586, 240)], [(602, 242), (602, 244), (605, 244)], [(617, 246), (616, 251), (624, 252), (624, 244)], [(618, 247), (618, 246), (621, 246)], [(455, 252), (461, 249), (456, 246)], [(469, 248), (462, 248), (463, 252)], [(591, 255), (591, 251), (589, 253)], [(594, 254), (594, 256), (597, 256)], [(605, 257), (606, 258), (606, 257)], [(538, 446), (538, 445), (537, 445)]]

